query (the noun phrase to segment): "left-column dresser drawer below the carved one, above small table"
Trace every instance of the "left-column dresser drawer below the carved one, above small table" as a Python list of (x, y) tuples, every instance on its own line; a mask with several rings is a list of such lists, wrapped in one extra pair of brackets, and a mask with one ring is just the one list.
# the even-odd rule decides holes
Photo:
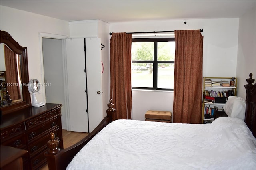
[(14, 148), (24, 149), (26, 148), (26, 138), (24, 134), (20, 134), (4, 142), (1, 141), (1, 144), (5, 146), (12, 146)]

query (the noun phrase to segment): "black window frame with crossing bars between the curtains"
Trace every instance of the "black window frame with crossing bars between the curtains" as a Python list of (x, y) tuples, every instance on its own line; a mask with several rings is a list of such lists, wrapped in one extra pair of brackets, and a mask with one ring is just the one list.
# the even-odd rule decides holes
[(146, 89), (146, 90), (167, 90), (173, 91), (169, 88), (158, 88), (158, 64), (174, 64), (175, 61), (157, 61), (157, 42), (175, 42), (174, 37), (168, 38), (132, 38), (132, 42), (154, 42), (154, 60), (132, 60), (132, 63), (153, 63), (153, 87), (132, 87), (132, 89)]

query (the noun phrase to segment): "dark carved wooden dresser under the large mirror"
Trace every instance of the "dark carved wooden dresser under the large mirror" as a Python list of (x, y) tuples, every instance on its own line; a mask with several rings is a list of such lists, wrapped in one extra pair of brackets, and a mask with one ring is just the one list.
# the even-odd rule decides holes
[(61, 104), (46, 103), (2, 116), (1, 145), (28, 150), (22, 156), (24, 170), (39, 169), (47, 163), (44, 152), (52, 132), (63, 148), (61, 107)]

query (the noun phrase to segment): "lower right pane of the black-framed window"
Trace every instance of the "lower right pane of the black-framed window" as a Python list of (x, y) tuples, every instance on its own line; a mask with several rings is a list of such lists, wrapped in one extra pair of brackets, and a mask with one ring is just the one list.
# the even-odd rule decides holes
[(157, 87), (164, 89), (173, 89), (174, 64), (158, 64)]

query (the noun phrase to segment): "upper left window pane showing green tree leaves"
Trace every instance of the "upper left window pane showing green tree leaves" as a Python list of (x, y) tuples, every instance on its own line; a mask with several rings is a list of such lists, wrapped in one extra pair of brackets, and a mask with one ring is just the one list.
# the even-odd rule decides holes
[(154, 42), (132, 42), (132, 60), (154, 60)]

